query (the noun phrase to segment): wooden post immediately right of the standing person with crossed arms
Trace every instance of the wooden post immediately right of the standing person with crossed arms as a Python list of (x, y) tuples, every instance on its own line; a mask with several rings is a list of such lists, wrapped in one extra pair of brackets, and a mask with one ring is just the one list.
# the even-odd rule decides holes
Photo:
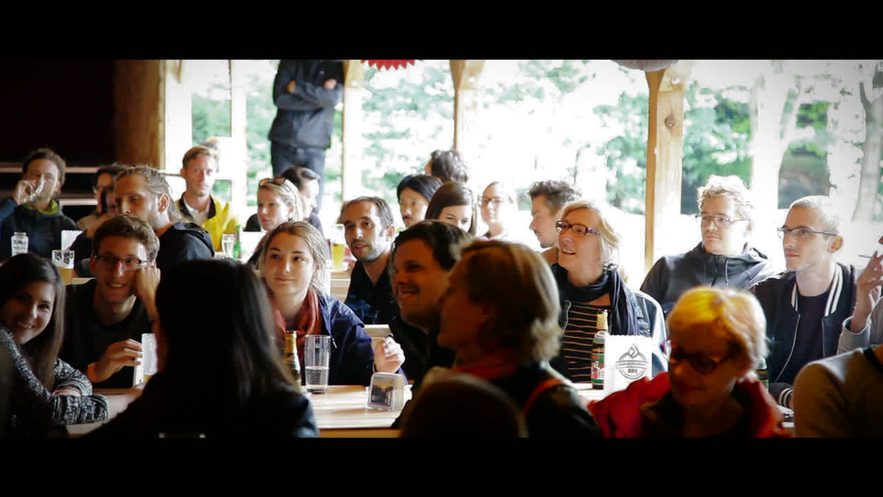
[(361, 60), (343, 61), (343, 129), (341, 144), (341, 201), (360, 195), (362, 190), (363, 151), (362, 123), (365, 112), (365, 65)]

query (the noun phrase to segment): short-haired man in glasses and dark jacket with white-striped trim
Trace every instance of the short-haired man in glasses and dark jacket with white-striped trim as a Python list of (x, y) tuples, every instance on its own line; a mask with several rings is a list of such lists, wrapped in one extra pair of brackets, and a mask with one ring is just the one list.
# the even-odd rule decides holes
[(857, 271), (836, 260), (840, 218), (823, 195), (799, 198), (778, 228), (787, 271), (751, 287), (766, 315), (770, 393), (791, 407), (792, 385), (806, 363), (837, 353), (843, 320), (856, 306)]

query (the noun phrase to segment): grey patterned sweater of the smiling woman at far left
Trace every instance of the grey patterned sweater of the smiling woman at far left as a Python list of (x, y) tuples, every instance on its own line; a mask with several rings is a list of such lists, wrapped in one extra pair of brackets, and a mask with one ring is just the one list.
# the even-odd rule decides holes
[(12, 360), (11, 417), (7, 436), (43, 436), (53, 427), (65, 424), (94, 423), (108, 417), (104, 395), (92, 394), (92, 384), (83, 373), (61, 359), (55, 364), (55, 388), (71, 388), (82, 396), (58, 395), (49, 392), (34, 375), (25, 352), (0, 325), (0, 346)]

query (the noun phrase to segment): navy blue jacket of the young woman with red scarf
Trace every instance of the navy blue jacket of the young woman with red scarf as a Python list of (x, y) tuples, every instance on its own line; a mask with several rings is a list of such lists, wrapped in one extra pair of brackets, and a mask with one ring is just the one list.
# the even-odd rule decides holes
[[(374, 374), (374, 349), (362, 320), (343, 302), (321, 292), (319, 309), (322, 334), (331, 336), (328, 385), (370, 385)], [(396, 372), (404, 375), (401, 368)]]

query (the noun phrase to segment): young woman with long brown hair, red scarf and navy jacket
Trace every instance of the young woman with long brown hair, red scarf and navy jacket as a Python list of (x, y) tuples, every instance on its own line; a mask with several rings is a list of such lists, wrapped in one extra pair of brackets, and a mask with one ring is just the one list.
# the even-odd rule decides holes
[(373, 348), (361, 319), (321, 289), (328, 251), (316, 228), (303, 221), (285, 222), (265, 240), (258, 271), (275, 305), (280, 347), (286, 331), (296, 333), (303, 361), (306, 335), (330, 335), (328, 385), (369, 385), (374, 371), (404, 374), (402, 347), (387, 338)]

